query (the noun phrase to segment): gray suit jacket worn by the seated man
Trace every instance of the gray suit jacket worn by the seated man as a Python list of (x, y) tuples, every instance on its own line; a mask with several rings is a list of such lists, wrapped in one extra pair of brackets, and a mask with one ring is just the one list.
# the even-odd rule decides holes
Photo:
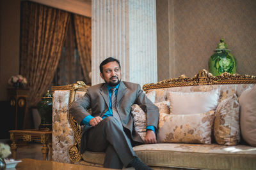
[[(145, 96), (139, 84), (120, 81), (120, 86), (116, 96), (116, 109), (122, 120), (122, 124), (131, 132), (132, 139), (143, 143), (140, 135), (134, 131), (133, 119), (131, 116), (132, 104), (143, 105), (147, 113), (147, 125), (153, 125), (157, 129), (159, 120), (159, 110)], [(78, 124), (81, 124), (84, 117), (104, 115), (108, 111), (109, 92), (106, 83), (100, 83), (88, 88), (83, 97), (74, 101), (70, 108), (70, 113), (74, 116)], [(92, 114), (88, 112), (92, 109)], [(83, 140), (83, 139), (82, 139)], [(82, 141), (81, 141), (82, 142)], [(83, 145), (83, 143), (81, 143)]]

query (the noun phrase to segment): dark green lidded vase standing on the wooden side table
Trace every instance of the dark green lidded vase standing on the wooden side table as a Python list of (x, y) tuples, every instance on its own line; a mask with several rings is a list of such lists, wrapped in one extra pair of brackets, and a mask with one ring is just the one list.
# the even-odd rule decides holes
[(52, 129), (52, 95), (49, 90), (44, 94), (42, 100), (37, 104), (37, 109), (41, 117), (40, 130)]

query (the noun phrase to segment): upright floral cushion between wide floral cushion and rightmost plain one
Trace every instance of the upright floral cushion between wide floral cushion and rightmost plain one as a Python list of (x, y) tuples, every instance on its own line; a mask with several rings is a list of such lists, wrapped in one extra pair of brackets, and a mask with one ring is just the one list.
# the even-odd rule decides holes
[(214, 121), (214, 137), (221, 145), (237, 145), (240, 141), (239, 103), (236, 94), (218, 104)]

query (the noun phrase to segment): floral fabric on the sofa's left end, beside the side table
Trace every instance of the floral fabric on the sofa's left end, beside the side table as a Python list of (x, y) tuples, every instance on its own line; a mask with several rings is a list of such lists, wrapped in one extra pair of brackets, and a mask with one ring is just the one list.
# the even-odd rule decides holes
[[(77, 91), (74, 99), (84, 94)], [(74, 131), (68, 121), (70, 90), (56, 90), (52, 97), (52, 159), (70, 163), (67, 151), (75, 142)]]

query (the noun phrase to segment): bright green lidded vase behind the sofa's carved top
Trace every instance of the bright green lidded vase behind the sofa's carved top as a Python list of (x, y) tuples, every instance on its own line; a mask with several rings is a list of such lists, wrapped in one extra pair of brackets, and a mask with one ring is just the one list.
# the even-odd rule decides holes
[(215, 53), (209, 59), (209, 72), (213, 76), (220, 76), (224, 72), (236, 73), (236, 58), (228, 50), (224, 39), (220, 39)]

